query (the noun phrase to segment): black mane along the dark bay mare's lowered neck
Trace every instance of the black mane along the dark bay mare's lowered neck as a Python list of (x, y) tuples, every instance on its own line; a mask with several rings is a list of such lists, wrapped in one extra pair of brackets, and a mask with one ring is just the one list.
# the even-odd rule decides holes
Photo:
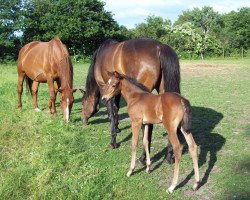
[(92, 94), (92, 92), (95, 90), (95, 87), (97, 86), (94, 70), (95, 70), (95, 63), (96, 63), (96, 58), (98, 57), (98, 54), (102, 52), (107, 46), (111, 44), (115, 44), (115, 43), (117, 43), (116, 40), (107, 39), (94, 52), (93, 57), (92, 57), (92, 62), (88, 70), (88, 75), (87, 75), (87, 79), (85, 83), (85, 94), (84, 94), (83, 99), (88, 98)]

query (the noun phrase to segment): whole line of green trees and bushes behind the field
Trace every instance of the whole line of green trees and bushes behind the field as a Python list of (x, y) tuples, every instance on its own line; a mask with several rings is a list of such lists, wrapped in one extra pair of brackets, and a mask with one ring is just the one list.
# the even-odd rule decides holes
[(0, 60), (15, 60), (24, 44), (55, 36), (74, 59), (90, 57), (106, 39), (150, 37), (181, 58), (249, 56), (250, 8), (225, 14), (212, 7), (183, 11), (175, 22), (148, 16), (135, 28), (119, 26), (100, 0), (0, 0)]

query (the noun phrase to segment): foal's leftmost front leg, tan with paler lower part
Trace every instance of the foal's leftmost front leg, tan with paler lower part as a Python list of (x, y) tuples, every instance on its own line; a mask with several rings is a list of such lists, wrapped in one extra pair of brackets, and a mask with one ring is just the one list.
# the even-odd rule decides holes
[(136, 121), (132, 120), (132, 145), (131, 145), (132, 154), (131, 154), (130, 168), (129, 168), (129, 171), (127, 173), (128, 177), (132, 174), (132, 172), (133, 172), (133, 170), (135, 168), (136, 149), (137, 149), (137, 145), (138, 145), (138, 138), (139, 138), (139, 134), (140, 134), (140, 128), (141, 128), (141, 122), (138, 122), (137, 120)]

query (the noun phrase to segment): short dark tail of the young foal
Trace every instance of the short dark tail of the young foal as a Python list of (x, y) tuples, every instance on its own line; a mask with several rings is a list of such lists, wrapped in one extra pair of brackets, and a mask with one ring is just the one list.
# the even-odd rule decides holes
[(190, 133), (192, 129), (192, 108), (190, 102), (187, 99), (182, 98), (181, 103), (184, 110), (181, 127), (186, 133)]

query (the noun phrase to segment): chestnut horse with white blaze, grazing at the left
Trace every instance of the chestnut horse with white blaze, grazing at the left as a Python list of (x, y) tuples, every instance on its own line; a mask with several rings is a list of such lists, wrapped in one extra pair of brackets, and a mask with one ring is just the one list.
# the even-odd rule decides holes
[[(37, 105), (38, 86), (47, 82), (50, 92), (48, 111), (57, 117), (55, 100), (59, 91), (63, 119), (68, 122), (73, 105), (73, 66), (65, 45), (58, 37), (49, 42), (34, 41), (26, 44), (19, 52), (18, 63), (18, 108), (21, 109), (23, 81), (26, 79), (32, 94), (33, 107)], [(55, 83), (54, 83), (55, 82)]]

